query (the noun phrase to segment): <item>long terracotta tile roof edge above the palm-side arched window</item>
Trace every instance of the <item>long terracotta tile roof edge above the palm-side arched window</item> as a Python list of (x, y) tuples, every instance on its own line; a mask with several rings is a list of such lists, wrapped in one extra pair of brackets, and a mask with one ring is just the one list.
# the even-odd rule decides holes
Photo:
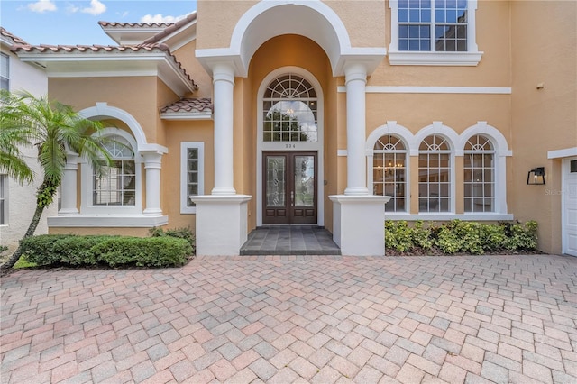
[(13, 52), (26, 51), (26, 52), (125, 52), (125, 51), (153, 51), (161, 50), (166, 52), (169, 57), (177, 64), (182, 73), (188, 78), (193, 87), (198, 88), (197, 84), (193, 78), (190, 77), (187, 70), (182, 66), (182, 63), (170, 52), (169, 46), (162, 43), (147, 43), (138, 45), (30, 45), (30, 44), (16, 44), (10, 50)]

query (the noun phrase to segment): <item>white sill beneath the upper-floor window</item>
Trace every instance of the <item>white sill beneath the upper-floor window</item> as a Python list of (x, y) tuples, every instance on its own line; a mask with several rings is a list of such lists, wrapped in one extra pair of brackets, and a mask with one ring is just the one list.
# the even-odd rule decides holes
[(467, 66), (481, 61), (483, 52), (415, 52), (389, 50), (390, 65)]

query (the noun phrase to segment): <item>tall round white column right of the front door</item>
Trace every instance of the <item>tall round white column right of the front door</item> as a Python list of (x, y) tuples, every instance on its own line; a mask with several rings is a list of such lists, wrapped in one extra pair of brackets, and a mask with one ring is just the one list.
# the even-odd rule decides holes
[(364, 153), (365, 86), (367, 70), (362, 64), (344, 69), (346, 84), (346, 181), (344, 195), (369, 195)]

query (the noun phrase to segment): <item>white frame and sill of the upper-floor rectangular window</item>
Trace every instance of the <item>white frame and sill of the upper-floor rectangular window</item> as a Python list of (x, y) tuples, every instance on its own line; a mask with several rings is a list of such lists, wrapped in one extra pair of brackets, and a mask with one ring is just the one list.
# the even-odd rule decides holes
[[(435, 0), (431, 0), (435, 4)], [(398, 50), (398, 0), (389, 0), (390, 7), (390, 65), (426, 66), (476, 66), (481, 61), (482, 51), (477, 46), (476, 10), (477, 0), (467, 1), (467, 51), (435, 52)]]

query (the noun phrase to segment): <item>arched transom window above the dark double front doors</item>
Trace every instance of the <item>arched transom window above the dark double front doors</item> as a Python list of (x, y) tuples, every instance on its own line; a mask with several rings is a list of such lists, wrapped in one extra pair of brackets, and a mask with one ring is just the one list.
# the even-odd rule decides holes
[(264, 142), (316, 142), (317, 98), (313, 86), (296, 74), (272, 80), (264, 92)]

